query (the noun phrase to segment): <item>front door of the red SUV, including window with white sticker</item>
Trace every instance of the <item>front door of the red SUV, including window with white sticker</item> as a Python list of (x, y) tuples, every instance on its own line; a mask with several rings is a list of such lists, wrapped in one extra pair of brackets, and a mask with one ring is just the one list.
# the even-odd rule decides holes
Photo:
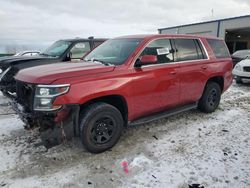
[(169, 39), (149, 43), (143, 55), (157, 56), (157, 64), (134, 68), (133, 108), (136, 117), (171, 108), (179, 103), (179, 64)]

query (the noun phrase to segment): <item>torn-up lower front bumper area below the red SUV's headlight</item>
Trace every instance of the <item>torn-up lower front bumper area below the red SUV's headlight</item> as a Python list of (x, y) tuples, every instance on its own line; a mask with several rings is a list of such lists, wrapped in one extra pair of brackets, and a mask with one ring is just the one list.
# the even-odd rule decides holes
[(79, 105), (67, 105), (53, 112), (27, 112), (24, 106), (13, 100), (12, 108), (25, 123), (26, 129), (39, 128), (42, 142), (47, 148), (79, 135)]

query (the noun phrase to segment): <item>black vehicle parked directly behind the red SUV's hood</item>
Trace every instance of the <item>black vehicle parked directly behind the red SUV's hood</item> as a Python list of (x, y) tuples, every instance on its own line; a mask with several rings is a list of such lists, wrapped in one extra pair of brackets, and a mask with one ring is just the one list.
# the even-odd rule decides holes
[(0, 58), (0, 89), (4, 95), (16, 91), (14, 76), (21, 69), (38, 65), (80, 60), (89, 51), (106, 39), (67, 39), (59, 40), (38, 56), (9, 56)]

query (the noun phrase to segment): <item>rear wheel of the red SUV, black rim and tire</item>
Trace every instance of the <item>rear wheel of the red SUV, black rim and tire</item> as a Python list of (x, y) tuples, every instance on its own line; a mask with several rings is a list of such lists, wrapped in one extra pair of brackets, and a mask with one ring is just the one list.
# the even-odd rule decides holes
[(202, 97), (199, 100), (198, 108), (202, 112), (211, 113), (217, 109), (220, 104), (221, 88), (215, 82), (208, 82)]

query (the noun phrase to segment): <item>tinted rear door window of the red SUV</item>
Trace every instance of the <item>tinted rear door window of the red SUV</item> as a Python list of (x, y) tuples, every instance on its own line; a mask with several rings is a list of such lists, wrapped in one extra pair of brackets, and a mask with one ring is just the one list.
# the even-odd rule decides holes
[[(177, 49), (177, 61), (188, 61), (201, 59), (201, 51), (198, 55), (196, 40), (193, 39), (175, 39), (175, 46)], [(201, 49), (200, 49), (201, 50)]]

